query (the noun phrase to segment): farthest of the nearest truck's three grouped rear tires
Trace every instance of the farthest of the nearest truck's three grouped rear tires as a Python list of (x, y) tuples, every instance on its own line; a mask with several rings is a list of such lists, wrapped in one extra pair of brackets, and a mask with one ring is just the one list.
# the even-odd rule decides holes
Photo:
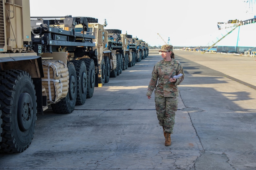
[(94, 61), (91, 58), (82, 58), (81, 60), (83, 60), (86, 63), (88, 81), (87, 98), (91, 98), (93, 96), (96, 79)]

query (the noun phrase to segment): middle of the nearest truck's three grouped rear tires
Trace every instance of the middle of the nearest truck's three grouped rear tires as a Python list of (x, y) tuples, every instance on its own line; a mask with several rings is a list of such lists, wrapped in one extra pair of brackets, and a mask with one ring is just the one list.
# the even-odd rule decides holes
[(75, 66), (77, 79), (76, 105), (83, 105), (87, 96), (87, 70), (83, 60), (71, 60)]

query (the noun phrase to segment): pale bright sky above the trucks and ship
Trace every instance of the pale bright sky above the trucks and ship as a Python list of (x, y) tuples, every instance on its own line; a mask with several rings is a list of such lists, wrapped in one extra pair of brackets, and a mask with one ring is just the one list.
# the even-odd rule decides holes
[[(29, 0), (31, 16), (72, 15), (97, 18), (106, 29), (119, 29), (151, 46), (209, 46), (217, 23), (254, 17), (250, 0)], [(157, 35), (159, 33), (159, 35)]]

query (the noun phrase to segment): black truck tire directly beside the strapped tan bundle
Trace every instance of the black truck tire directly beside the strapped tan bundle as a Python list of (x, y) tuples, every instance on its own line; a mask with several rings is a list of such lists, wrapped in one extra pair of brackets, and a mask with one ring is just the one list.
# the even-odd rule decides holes
[(72, 62), (67, 62), (69, 68), (69, 91), (67, 96), (61, 101), (52, 104), (52, 110), (55, 113), (68, 114), (72, 113), (76, 104), (77, 97), (77, 79), (76, 70)]

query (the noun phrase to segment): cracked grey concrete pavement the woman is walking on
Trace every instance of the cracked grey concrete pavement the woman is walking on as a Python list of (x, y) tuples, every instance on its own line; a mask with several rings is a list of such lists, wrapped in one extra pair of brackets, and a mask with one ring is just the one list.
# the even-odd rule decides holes
[[(146, 98), (153, 66), (161, 59), (158, 51), (150, 51), (95, 88), (73, 113), (38, 115), (30, 147), (0, 155), (0, 169), (255, 169), (256, 91), (253, 81), (237, 82), (240, 75), (231, 75), (242, 73), (233, 65), (239, 56), (219, 62), (219, 54), (174, 53), (185, 79), (170, 147), (164, 146), (154, 96)], [(239, 68), (256, 62), (247, 59)]]

